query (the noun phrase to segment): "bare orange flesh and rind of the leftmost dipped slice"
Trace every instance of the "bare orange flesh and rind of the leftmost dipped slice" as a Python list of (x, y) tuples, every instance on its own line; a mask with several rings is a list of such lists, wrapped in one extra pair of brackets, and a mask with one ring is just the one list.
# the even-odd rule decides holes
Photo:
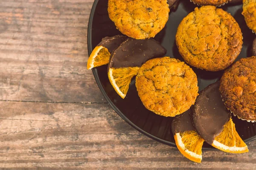
[(106, 65), (109, 62), (109, 58), (110, 52), (108, 51), (108, 48), (96, 46), (88, 59), (87, 69), (90, 70), (94, 67)]

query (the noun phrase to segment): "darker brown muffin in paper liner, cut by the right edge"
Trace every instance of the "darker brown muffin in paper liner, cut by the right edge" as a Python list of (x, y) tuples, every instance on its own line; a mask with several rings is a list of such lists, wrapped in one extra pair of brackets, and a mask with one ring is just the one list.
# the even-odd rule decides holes
[(241, 119), (256, 120), (256, 57), (243, 58), (221, 77), (220, 92), (230, 111)]

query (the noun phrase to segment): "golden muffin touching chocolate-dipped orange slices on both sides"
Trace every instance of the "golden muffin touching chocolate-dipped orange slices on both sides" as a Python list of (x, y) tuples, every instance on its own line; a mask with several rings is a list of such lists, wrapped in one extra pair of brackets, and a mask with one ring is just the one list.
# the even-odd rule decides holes
[(135, 85), (145, 108), (166, 117), (187, 111), (198, 96), (195, 72), (184, 62), (170, 57), (145, 62)]

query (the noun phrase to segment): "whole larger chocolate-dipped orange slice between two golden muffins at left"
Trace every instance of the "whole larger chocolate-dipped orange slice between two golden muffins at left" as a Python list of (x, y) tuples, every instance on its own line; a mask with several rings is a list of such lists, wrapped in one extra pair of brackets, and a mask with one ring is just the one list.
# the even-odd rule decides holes
[(163, 57), (166, 49), (154, 39), (128, 38), (111, 53), (108, 78), (119, 96), (125, 98), (132, 77), (136, 76), (144, 62)]

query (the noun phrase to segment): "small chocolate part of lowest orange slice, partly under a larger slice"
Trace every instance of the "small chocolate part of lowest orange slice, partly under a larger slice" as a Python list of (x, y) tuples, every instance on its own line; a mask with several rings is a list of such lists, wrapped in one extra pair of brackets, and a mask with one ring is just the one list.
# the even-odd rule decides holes
[(195, 127), (193, 125), (192, 119), (191, 119), (191, 109), (185, 111), (184, 113), (175, 116), (175, 118), (172, 121), (172, 134), (175, 135), (175, 133), (195, 130)]

